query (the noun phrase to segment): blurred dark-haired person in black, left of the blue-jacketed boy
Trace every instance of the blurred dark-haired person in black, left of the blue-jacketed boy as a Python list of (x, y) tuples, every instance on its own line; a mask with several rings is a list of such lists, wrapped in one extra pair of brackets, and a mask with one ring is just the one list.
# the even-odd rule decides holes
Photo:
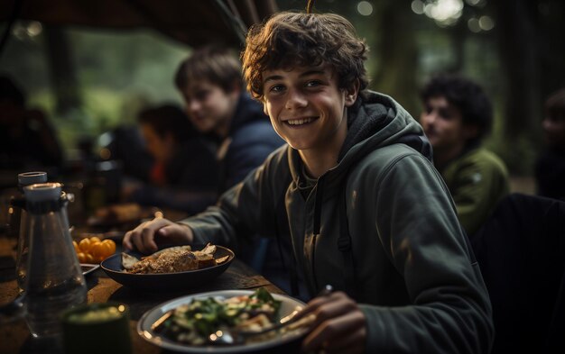
[(127, 199), (190, 214), (216, 203), (219, 167), (214, 144), (194, 128), (181, 108), (146, 109), (138, 123), (154, 163), (150, 183), (125, 187)]

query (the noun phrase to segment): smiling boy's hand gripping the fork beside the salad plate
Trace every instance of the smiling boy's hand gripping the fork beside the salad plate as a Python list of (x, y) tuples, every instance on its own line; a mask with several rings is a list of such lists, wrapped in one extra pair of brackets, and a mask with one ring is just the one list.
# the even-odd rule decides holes
[(366, 343), (365, 315), (343, 292), (316, 297), (301, 311), (315, 313), (313, 330), (302, 343), (304, 352), (363, 353)]

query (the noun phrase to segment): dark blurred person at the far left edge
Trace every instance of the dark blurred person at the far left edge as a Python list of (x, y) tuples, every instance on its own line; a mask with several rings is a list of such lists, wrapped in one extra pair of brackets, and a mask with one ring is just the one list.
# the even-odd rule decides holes
[(25, 101), (14, 80), (0, 76), (0, 169), (60, 171), (63, 152), (57, 135), (45, 114), (26, 108)]

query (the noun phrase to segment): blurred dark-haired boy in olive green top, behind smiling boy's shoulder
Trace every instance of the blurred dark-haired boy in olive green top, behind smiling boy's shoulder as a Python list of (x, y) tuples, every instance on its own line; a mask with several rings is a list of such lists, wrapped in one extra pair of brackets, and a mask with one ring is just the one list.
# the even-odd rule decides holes
[(492, 126), (492, 105), (475, 82), (453, 75), (431, 78), (421, 100), (420, 123), (433, 147), (435, 167), (472, 237), (509, 193), (505, 163), (481, 146)]

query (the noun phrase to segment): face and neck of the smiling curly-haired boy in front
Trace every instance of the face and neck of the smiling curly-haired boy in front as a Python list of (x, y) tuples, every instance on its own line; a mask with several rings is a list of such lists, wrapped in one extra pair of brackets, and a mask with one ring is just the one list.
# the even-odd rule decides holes
[(264, 113), (311, 177), (336, 165), (347, 135), (346, 107), (355, 103), (357, 91), (358, 83), (338, 88), (338, 75), (328, 64), (264, 71)]

